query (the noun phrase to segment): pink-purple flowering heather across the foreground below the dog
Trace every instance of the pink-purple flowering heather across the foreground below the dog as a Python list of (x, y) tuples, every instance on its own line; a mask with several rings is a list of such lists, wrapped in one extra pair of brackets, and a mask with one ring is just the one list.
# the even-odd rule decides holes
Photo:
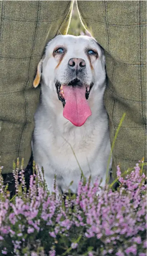
[[(10, 199), (0, 168), (0, 256), (145, 256), (145, 163), (121, 173), (119, 188), (81, 175), (77, 195), (50, 193), (35, 163), (29, 189), (23, 161), (14, 166), (16, 195)], [(43, 170), (42, 170), (43, 171)], [(99, 195), (97, 195), (97, 192)]]

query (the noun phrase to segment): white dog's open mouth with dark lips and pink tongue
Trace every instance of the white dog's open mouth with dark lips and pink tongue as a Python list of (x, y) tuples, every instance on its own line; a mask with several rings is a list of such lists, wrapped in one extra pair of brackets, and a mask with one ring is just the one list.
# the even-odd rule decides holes
[(64, 107), (63, 116), (76, 126), (82, 126), (92, 115), (87, 101), (92, 86), (93, 83), (86, 87), (77, 78), (68, 84), (56, 83), (58, 98)]

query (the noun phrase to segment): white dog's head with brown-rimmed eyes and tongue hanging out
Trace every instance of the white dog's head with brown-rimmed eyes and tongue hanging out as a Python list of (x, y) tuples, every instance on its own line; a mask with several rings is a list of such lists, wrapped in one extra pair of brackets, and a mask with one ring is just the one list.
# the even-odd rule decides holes
[(81, 126), (92, 114), (88, 104), (90, 90), (96, 91), (105, 80), (102, 48), (92, 37), (59, 35), (47, 44), (34, 87), (40, 83), (41, 75), (50, 94), (55, 93), (62, 102), (63, 116)]

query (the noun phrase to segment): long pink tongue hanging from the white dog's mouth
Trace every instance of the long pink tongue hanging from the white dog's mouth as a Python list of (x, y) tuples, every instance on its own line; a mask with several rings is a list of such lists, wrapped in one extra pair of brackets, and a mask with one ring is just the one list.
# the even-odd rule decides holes
[(88, 102), (85, 98), (86, 88), (63, 86), (66, 104), (63, 116), (76, 126), (82, 126), (86, 119), (92, 115)]

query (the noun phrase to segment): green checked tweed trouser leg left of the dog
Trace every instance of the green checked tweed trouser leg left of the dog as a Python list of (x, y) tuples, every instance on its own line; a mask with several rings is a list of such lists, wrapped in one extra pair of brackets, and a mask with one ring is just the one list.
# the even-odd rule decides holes
[(0, 156), (3, 173), (31, 156), (40, 87), (33, 78), (46, 43), (66, 34), (73, 1), (0, 1)]

